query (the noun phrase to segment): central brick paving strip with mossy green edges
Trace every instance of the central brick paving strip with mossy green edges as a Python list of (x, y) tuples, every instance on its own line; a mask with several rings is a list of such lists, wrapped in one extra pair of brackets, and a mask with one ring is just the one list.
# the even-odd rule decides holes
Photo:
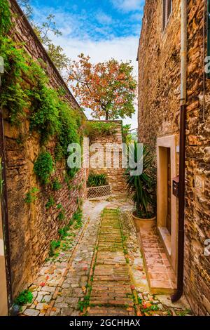
[(135, 315), (118, 209), (104, 209), (90, 284), (87, 315)]

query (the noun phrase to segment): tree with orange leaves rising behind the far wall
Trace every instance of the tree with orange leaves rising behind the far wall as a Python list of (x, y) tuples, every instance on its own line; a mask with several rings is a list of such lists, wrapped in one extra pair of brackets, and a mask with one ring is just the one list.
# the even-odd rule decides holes
[(131, 62), (92, 64), (90, 56), (78, 55), (72, 61), (68, 81), (80, 105), (92, 110), (92, 117), (119, 119), (134, 114), (137, 81), (132, 76)]

